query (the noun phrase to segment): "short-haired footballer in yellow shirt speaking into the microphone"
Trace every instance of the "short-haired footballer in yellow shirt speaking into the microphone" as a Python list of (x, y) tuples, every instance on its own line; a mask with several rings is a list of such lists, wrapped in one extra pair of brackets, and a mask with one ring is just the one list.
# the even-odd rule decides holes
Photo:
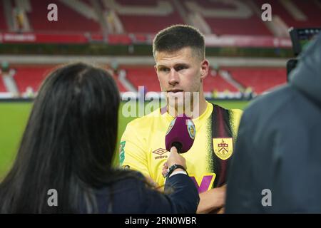
[(223, 212), (227, 172), (242, 111), (226, 110), (205, 100), (203, 83), (210, 63), (205, 58), (205, 38), (197, 28), (164, 28), (153, 39), (153, 56), (166, 106), (128, 123), (121, 139), (121, 165), (163, 185), (163, 164), (170, 155), (165, 150), (166, 131), (175, 116), (185, 113), (193, 118), (196, 131), (193, 146), (182, 156), (200, 192), (197, 212)]

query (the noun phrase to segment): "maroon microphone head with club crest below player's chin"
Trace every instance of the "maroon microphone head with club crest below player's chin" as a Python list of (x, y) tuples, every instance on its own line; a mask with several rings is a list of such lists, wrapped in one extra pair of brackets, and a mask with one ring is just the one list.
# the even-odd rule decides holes
[(183, 114), (170, 122), (165, 136), (166, 150), (176, 147), (178, 153), (184, 153), (190, 150), (195, 139), (195, 125), (193, 120)]

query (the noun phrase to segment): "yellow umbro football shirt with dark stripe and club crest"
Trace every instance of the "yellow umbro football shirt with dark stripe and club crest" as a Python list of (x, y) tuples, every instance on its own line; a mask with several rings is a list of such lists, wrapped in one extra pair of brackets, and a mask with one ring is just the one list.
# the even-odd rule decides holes
[[(241, 115), (242, 110), (226, 110), (208, 103), (205, 112), (193, 119), (195, 140), (182, 155), (199, 192), (225, 183)], [(121, 166), (138, 170), (158, 185), (164, 185), (161, 172), (169, 155), (165, 150), (165, 134), (172, 120), (172, 116), (161, 114), (158, 108), (128, 123), (119, 149)]]

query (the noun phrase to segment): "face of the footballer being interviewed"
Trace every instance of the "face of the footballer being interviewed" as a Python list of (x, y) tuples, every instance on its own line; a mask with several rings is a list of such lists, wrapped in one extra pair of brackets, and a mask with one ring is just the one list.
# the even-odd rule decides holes
[[(183, 105), (186, 92), (191, 92), (192, 103), (193, 92), (202, 92), (203, 95), (202, 82), (208, 74), (208, 61), (201, 60), (192, 48), (186, 47), (170, 53), (156, 51), (155, 61), (161, 90), (166, 93), (168, 100), (178, 100), (175, 109)], [(173, 102), (168, 104), (174, 105)]]

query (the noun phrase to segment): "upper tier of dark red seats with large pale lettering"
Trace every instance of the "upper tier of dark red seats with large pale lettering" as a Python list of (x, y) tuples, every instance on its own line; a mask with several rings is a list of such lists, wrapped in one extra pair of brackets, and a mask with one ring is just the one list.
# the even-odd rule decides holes
[[(17, 4), (20, 2), (20, 4)], [(8, 0), (11, 18), (20, 7), (28, 29), (46, 33), (154, 34), (171, 24), (192, 24), (205, 34), (218, 36), (288, 36), (287, 28), (320, 26), (321, 2), (301, 0)], [(58, 6), (58, 21), (46, 20), (47, 6)], [(95, 3), (95, 4), (93, 4)], [(272, 5), (273, 21), (261, 19), (261, 6)], [(4, 12), (4, 1), (0, 1)], [(5, 14), (0, 14), (0, 30), (9, 31)], [(280, 27), (280, 28), (273, 28)], [(23, 30), (23, 31), (28, 31)], [(282, 30), (282, 33), (276, 31)], [(113, 37), (115, 39), (115, 37)]]

